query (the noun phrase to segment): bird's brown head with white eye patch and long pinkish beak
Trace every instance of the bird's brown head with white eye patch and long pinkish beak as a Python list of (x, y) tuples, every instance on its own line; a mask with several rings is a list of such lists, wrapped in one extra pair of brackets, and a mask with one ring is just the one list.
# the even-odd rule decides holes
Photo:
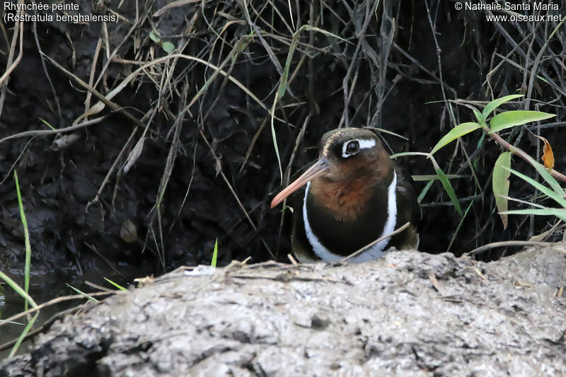
[(273, 198), (277, 206), (311, 180), (350, 182), (357, 178), (379, 180), (391, 171), (391, 159), (374, 132), (342, 128), (326, 132), (320, 139), (318, 161)]

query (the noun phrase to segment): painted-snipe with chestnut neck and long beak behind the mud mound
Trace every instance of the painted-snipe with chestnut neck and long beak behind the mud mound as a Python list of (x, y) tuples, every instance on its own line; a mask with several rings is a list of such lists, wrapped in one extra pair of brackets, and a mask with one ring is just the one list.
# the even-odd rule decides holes
[[(338, 262), (364, 247), (350, 262), (366, 262), (392, 247), (418, 248), (415, 192), (371, 129), (326, 132), (318, 161), (279, 192), (271, 207), (297, 190), (291, 248), (299, 262)], [(374, 242), (407, 222), (404, 231)]]

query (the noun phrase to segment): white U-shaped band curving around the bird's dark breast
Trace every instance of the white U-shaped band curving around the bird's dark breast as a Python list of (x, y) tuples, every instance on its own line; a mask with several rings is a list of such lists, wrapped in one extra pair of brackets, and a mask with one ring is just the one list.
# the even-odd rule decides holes
[[(308, 243), (311, 244), (314, 253), (324, 262), (337, 262), (338, 260), (342, 260), (344, 257), (342, 255), (336, 255), (325, 246), (320, 243), (318, 237), (313, 233), (313, 229), (311, 228), (311, 223), (308, 221), (308, 214), (306, 210), (306, 198), (308, 196), (308, 187), (310, 187), (311, 182), (306, 184), (305, 189), (305, 197), (303, 199), (303, 220), (305, 226), (305, 233), (306, 238), (308, 239)], [(397, 223), (397, 195), (396, 190), (397, 188), (397, 174), (395, 174), (395, 170), (393, 170), (393, 180), (391, 180), (391, 184), (387, 188), (387, 220), (385, 226), (383, 226), (383, 232), (381, 236), (377, 238), (381, 238), (388, 233), (391, 233), (395, 230), (395, 224)], [(376, 239), (377, 239), (376, 238)], [(382, 257), (385, 252), (383, 249), (387, 246), (391, 237), (386, 238), (385, 240), (381, 240), (379, 243), (371, 246), (371, 248), (367, 248), (361, 254), (357, 255), (356, 257), (350, 258), (350, 262), (358, 263), (358, 262), (367, 262), (368, 260), (376, 260)]]

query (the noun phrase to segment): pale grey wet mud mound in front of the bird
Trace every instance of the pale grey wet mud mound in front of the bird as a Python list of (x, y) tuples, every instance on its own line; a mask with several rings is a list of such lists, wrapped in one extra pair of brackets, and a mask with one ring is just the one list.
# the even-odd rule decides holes
[(566, 245), (234, 263), (87, 305), (0, 376), (563, 376)]

